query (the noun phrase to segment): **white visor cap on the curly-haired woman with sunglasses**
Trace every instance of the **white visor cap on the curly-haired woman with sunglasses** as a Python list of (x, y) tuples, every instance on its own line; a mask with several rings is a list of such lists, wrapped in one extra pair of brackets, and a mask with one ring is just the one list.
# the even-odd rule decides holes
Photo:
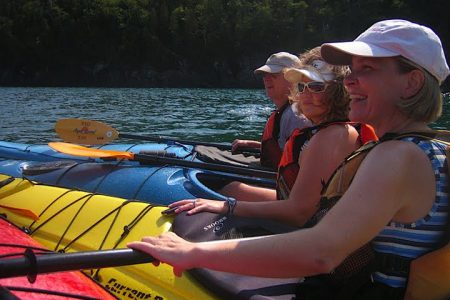
[(304, 77), (312, 81), (326, 82), (335, 79), (336, 75), (333, 73), (332, 65), (319, 59), (304, 68), (289, 68), (284, 72), (284, 78), (291, 83), (303, 81)]

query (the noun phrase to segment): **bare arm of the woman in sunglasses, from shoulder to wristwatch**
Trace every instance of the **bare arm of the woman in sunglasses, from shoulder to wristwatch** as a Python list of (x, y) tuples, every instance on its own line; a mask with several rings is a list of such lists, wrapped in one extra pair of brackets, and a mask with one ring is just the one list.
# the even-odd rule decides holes
[(312, 137), (300, 156), (300, 170), (289, 199), (275, 202), (239, 202), (234, 212), (245, 217), (270, 218), (302, 226), (317, 211), (322, 182), (359, 146), (351, 126), (335, 125)]

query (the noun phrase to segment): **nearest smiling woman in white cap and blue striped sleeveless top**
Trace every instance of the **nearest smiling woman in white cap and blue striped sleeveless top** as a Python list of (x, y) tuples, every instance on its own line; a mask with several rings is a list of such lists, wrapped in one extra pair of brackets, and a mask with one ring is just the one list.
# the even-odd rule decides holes
[[(387, 20), (354, 42), (322, 45), (322, 56), (330, 63), (350, 64), (352, 73), (345, 80), (352, 99), (350, 118), (372, 125), (382, 142), (357, 152), (337, 170), (324, 192), (324, 204), (338, 201), (316, 226), (213, 243), (165, 234), (129, 246), (173, 265), (177, 274), (201, 267), (301, 277), (333, 274), (350, 254), (373, 241), (377, 259), (371, 280), (352, 276), (361, 279), (353, 288), (338, 284), (321, 290), (332, 290), (334, 299), (403, 298), (409, 263), (442, 246), (448, 221), (446, 145), (426, 138), (433, 133), (427, 124), (442, 109), (439, 85), (450, 73), (442, 45), (427, 27)], [(449, 275), (442, 276), (443, 283), (432, 282), (425, 297), (448, 299)]]

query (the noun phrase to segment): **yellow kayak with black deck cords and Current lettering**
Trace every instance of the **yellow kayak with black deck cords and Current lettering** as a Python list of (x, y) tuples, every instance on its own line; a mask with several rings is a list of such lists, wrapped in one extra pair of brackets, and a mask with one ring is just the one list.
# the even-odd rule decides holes
[[(165, 208), (0, 175), (0, 214), (55, 251), (125, 248), (129, 241), (169, 231), (172, 218), (161, 215)], [(164, 264), (88, 273), (122, 299), (214, 298), (189, 274), (176, 277)]]

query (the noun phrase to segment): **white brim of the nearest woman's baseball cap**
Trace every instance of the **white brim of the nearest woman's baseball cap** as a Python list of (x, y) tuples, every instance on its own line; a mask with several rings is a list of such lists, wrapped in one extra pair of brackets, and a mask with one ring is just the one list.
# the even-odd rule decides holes
[(393, 57), (398, 53), (365, 42), (326, 43), (320, 47), (322, 58), (332, 65), (350, 65), (352, 56)]

